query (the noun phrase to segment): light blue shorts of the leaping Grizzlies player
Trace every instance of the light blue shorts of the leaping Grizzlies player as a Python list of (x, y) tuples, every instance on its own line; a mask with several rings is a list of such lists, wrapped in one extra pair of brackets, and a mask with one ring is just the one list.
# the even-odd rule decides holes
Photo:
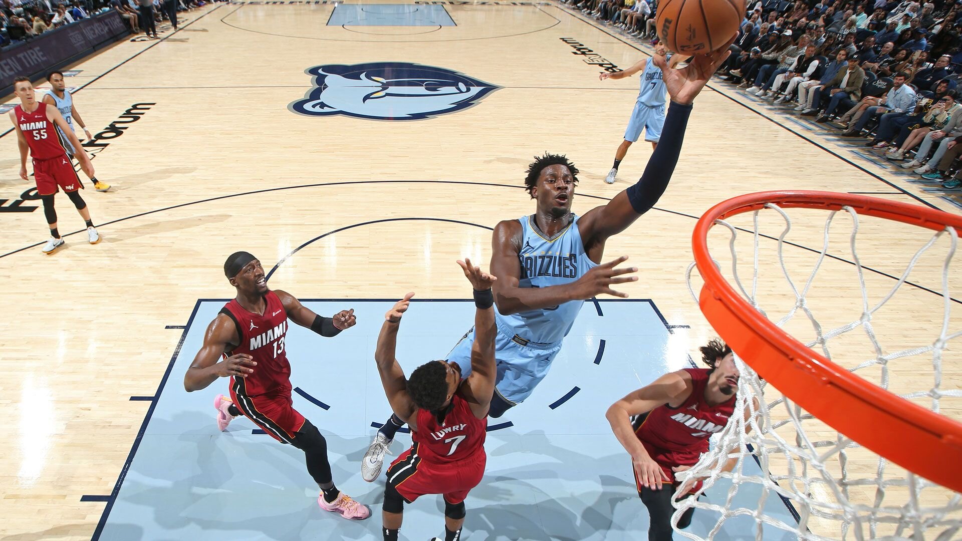
[[(501, 398), (512, 404), (527, 399), (535, 387), (547, 375), (551, 361), (561, 351), (561, 342), (549, 345), (528, 343), (517, 337), (505, 336), (500, 329), (494, 337), (494, 362), (497, 375), (494, 389)], [(447, 354), (447, 362), (457, 362), (462, 377), (471, 373), (471, 346), (474, 344), (474, 327)]]

